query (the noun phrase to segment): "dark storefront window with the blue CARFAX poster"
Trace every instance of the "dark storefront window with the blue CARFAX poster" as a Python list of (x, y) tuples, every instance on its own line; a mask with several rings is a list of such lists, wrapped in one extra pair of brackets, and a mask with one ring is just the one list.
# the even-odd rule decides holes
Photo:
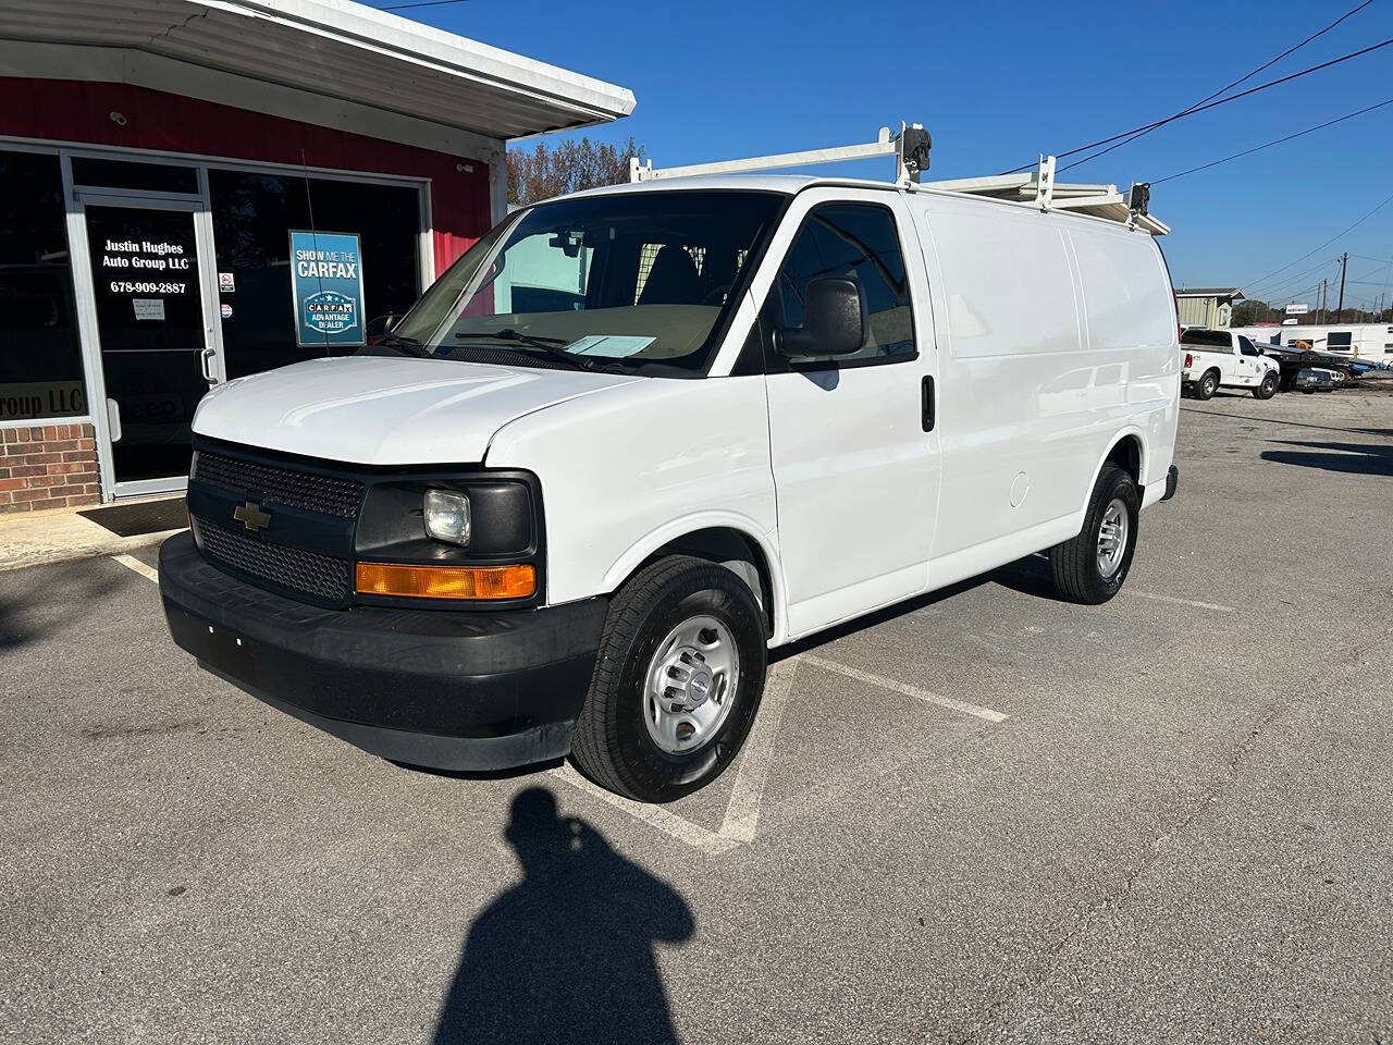
[[(418, 189), (231, 170), (209, 170), (208, 178), (228, 378), (347, 355), (362, 344), (352, 327), (318, 343), (306, 336), (315, 316), (306, 325), (297, 314), (293, 258), (306, 237), (297, 237), (293, 248), (293, 231), (318, 234), (334, 258), (352, 259), (355, 268), (336, 272), (351, 273), (345, 279), (359, 283), (352, 307), (358, 312), (351, 316), (358, 332), (371, 332), (375, 319), (400, 315), (415, 301), (421, 283)], [(308, 242), (315, 242), (312, 235)], [(344, 244), (351, 252), (340, 252)], [(322, 295), (319, 304), (326, 300), (333, 304), (336, 298)], [(304, 312), (304, 293), (299, 305)]]

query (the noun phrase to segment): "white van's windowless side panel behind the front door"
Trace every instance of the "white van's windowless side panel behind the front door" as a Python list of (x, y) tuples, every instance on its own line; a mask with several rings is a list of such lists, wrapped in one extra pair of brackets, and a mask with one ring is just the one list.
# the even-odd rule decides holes
[(1178, 353), (1149, 235), (989, 201), (910, 205), (942, 302), (939, 587), (1078, 532), (1124, 432), (1142, 439), (1144, 481), (1163, 483)]

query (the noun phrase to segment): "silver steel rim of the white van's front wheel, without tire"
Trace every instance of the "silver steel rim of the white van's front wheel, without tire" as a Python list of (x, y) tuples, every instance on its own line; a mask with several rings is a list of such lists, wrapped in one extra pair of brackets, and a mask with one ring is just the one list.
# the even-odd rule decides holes
[(740, 686), (740, 651), (730, 627), (709, 614), (667, 633), (644, 676), (644, 726), (670, 755), (699, 751), (730, 718)]

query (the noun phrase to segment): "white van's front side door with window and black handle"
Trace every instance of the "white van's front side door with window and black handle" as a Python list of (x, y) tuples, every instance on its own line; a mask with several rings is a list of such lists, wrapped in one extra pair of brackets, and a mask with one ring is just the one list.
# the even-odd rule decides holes
[[(897, 192), (811, 189), (790, 206), (756, 281), (791, 635), (928, 587), (939, 446), (919, 258)], [(775, 332), (802, 327), (808, 286), (825, 277), (859, 287), (862, 347), (780, 355)]]

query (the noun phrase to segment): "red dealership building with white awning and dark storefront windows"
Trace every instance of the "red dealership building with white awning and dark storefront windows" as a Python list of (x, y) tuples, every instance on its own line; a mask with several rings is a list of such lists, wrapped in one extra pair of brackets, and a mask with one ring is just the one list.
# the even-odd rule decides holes
[(628, 91), (345, 0), (0, 0), (0, 513), (182, 489), (212, 385), (350, 354)]

